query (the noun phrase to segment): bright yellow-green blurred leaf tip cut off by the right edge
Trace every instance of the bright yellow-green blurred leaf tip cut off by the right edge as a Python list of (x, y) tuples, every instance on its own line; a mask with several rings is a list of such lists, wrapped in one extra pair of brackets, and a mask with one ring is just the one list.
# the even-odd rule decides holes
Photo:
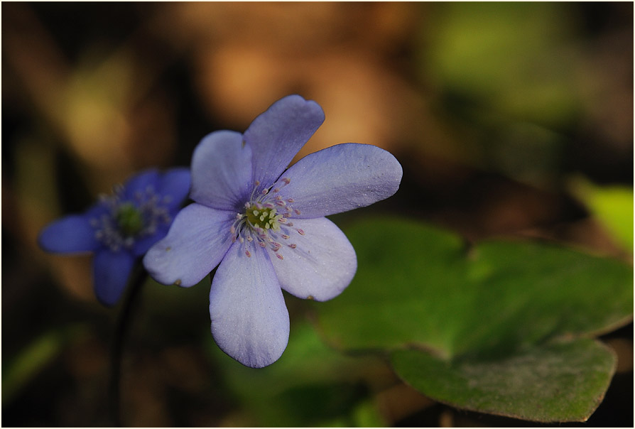
[(615, 242), (633, 254), (633, 188), (597, 186), (582, 179), (572, 188)]

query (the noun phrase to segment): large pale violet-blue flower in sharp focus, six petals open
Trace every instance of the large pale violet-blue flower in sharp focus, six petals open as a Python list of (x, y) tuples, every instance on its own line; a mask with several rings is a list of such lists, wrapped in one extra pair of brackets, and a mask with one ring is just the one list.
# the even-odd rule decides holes
[(344, 143), (286, 169), (324, 121), (298, 95), (259, 115), (244, 134), (215, 131), (192, 156), (195, 202), (143, 259), (159, 283), (195, 285), (216, 266), (210, 290), (212, 335), (246, 366), (275, 362), (288, 342), (282, 290), (329, 300), (357, 270), (342, 231), (325, 216), (393, 195), (401, 165), (376, 146)]

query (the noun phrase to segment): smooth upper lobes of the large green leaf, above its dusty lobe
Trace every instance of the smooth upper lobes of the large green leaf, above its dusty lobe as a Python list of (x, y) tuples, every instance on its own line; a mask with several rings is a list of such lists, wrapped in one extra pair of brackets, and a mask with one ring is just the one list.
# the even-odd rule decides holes
[(346, 232), (357, 275), (317, 308), (323, 334), (340, 349), (416, 346), (457, 371), (454, 362), (497, 362), (632, 317), (632, 268), (619, 261), (523, 241), (468, 250), (454, 234), (398, 219)]

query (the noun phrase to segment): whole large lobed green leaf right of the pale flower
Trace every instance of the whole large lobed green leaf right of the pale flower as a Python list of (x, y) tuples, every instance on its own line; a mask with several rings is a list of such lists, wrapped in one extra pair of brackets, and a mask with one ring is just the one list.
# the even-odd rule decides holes
[[(462, 408), (538, 421), (585, 420), (595, 410), (615, 358), (577, 339), (631, 320), (630, 266), (530, 241), (469, 248), (398, 219), (362, 222), (347, 235), (359, 268), (340, 297), (318, 307), (328, 342), (388, 351), (402, 379)], [(532, 386), (550, 389), (536, 396)]]

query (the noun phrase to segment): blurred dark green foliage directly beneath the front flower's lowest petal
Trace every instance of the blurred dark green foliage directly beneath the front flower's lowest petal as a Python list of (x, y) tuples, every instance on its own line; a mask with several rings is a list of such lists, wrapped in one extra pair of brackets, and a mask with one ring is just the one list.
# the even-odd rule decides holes
[[(294, 299), (294, 298), (291, 298)], [(293, 323), (288, 347), (275, 364), (247, 368), (211, 342), (211, 354), (222, 369), (234, 399), (262, 426), (383, 426), (367, 403), (368, 376), (383, 368), (372, 357), (346, 357), (327, 347), (307, 322)]]

